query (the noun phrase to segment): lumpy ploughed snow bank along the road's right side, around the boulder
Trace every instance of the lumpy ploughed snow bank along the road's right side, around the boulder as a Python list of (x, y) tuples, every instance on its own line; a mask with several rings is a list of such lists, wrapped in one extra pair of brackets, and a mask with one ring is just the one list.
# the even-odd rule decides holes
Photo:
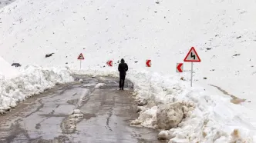
[[(70, 72), (118, 76), (116, 71)], [(180, 102), (185, 108), (187, 106), (187, 115), (177, 128), (161, 132), (162, 138), (167, 136), (170, 142), (253, 142), (255, 128), (248, 121), (252, 112), (241, 105), (232, 104), (229, 97), (212, 95), (197, 86), (190, 88), (189, 81), (182, 81), (178, 76), (130, 71), (127, 78), (133, 81), (136, 101), (146, 103), (140, 109), (140, 117), (133, 122), (135, 125), (157, 128), (157, 111), (161, 110), (161, 105)], [(150, 102), (153, 107), (149, 106)], [(167, 113), (163, 111), (164, 114)]]

